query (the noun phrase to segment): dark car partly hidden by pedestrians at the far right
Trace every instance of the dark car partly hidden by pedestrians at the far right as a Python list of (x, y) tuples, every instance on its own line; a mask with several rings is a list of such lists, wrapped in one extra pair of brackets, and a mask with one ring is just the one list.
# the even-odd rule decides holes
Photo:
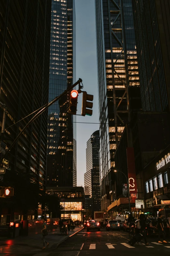
[[(158, 229), (156, 228), (156, 225), (158, 224), (158, 219), (157, 218), (147, 218), (146, 219), (146, 226), (147, 226), (147, 235), (158, 235)], [(166, 234), (169, 234), (169, 225), (166, 222), (166, 219), (163, 220), (163, 226), (165, 229)]]

